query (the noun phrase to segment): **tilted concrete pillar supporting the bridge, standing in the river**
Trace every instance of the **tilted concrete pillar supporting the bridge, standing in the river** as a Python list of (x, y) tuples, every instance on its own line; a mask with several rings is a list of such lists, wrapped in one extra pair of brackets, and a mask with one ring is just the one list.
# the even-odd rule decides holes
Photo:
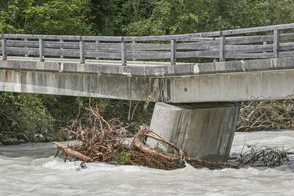
[[(190, 157), (226, 162), (240, 112), (238, 103), (155, 104), (150, 129), (185, 150)], [(148, 137), (150, 147), (174, 153), (172, 147)]]

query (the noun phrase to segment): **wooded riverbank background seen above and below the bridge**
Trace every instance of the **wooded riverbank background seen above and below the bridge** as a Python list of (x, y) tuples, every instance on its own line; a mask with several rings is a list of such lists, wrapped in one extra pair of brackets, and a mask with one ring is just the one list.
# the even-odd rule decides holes
[[(293, 0), (0, 0), (0, 34), (151, 36), (288, 23), (294, 23)], [(133, 130), (150, 122), (154, 107), (91, 102), (104, 119), (119, 118)], [(293, 99), (242, 105), (237, 131), (294, 129)], [(88, 106), (83, 97), (0, 92), (0, 145), (69, 140), (59, 129), (86, 123)]]

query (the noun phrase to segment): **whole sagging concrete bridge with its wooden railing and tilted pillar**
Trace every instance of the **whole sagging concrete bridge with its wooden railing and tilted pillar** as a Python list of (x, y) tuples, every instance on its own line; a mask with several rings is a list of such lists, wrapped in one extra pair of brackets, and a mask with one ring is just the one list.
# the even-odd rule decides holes
[(2, 34), (0, 91), (158, 102), (150, 128), (190, 156), (225, 161), (236, 101), (294, 98), (293, 28), (148, 37)]

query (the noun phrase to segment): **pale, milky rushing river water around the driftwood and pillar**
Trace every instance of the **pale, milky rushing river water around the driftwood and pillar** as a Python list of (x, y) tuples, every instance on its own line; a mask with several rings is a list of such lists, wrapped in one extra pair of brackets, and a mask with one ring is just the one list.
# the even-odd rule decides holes
[[(294, 147), (294, 131), (236, 133), (232, 152), (245, 145)], [(53, 159), (52, 143), (0, 147), (0, 196), (183, 195), (294, 196), (294, 165), (210, 171), (162, 171), (137, 166), (79, 163)]]

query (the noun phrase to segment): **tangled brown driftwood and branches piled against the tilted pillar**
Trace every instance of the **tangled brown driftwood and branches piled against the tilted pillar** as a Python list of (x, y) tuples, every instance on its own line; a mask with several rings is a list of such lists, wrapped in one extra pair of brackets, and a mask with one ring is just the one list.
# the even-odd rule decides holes
[[(54, 146), (58, 150), (66, 152), (66, 155), (73, 156), (75, 160), (83, 162), (98, 161), (120, 165), (146, 166), (162, 170), (184, 168), (186, 167), (186, 163), (194, 168), (208, 168), (210, 170), (220, 170), (224, 168), (239, 169), (244, 166), (244, 164), (236, 165), (233, 163), (234, 165), (232, 165), (231, 162), (229, 162), (229, 164), (215, 163), (188, 157), (182, 149), (176, 147), (155, 131), (148, 129), (145, 125), (141, 126), (141, 129), (136, 134), (122, 135), (120, 134), (120, 130), (127, 127), (123, 127), (123, 124), (118, 119), (112, 119), (110, 121), (104, 120), (98, 113), (97, 103), (95, 103), (94, 106), (90, 105), (88, 110), (89, 122), (87, 124), (73, 123), (72, 126), (62, 129), (75, 137), (77, 140), (75, 145), (69, 147), (55, 143)], [(160, 149), (154, 149), (147, 146), (143, 142), (147, 136), (165, 142), (173, 147), (177, 151), (177, 154), (163, 152)], [(271, 152), (275, 152), (274, 149), (267, 148), (266, 150), (268, 153), (264, 153), (266, 152), (264, 150), (257, 150), (257, 153), (251, 153), (252, 155), (266, 154), (266, 157), (258, 156), (257, 159), (256, 156), (243, 156), (246, 159), (241, 162), (246, 163), (247, 165), (247, 160), (252, 160), (250, 158), (254, 158), (257, 162), (262, 160), (264, 165), (263, 157), (270, 157), (272, 154)], [(286, 160), (288, 157), (286, 153), (291, 154), (292, 152), (288, 152), (287, 150), (283, 151), (283, 154), (281, 154), (279, 151), (276, 151), (273, 155), (274, 157), (278, 157), (276, 155), (279, 155), (281, 159), (278, 159), (278, 161), (279, 163), (282, 163), (284, 162), (283, 160)], [(69, 156), (66, 156), (65, 160), (72, 159), (70, 159)], [(270, 163), (270, 166), (275, 165)]]

